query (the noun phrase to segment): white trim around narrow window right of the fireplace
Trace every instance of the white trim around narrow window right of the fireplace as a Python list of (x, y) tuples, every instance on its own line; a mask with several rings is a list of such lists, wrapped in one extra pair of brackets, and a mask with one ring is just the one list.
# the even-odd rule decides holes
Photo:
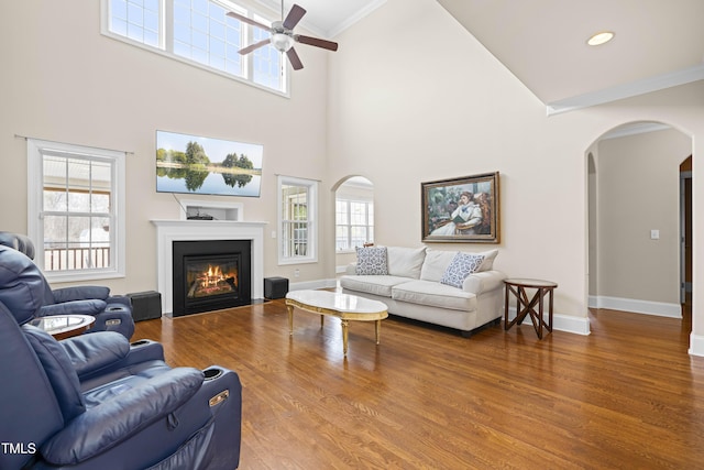
[[(283, 186), (302, 186), (307, 188), (307, 201), (308, 201), (308, 242), (307, 254), (305, 256), (285, 256), (284, 243), (286, 238), (284, 237), (284, 207), (283, 207)], [(304, 263), (317, 263), (318, 262), (318, 182), (315, 179), (297, 178), (294, 176), (277, 176), (276, 184), (276, 223), (277, 223), (277, 237), (278, 237), (278, 264), (304, 264)]]

